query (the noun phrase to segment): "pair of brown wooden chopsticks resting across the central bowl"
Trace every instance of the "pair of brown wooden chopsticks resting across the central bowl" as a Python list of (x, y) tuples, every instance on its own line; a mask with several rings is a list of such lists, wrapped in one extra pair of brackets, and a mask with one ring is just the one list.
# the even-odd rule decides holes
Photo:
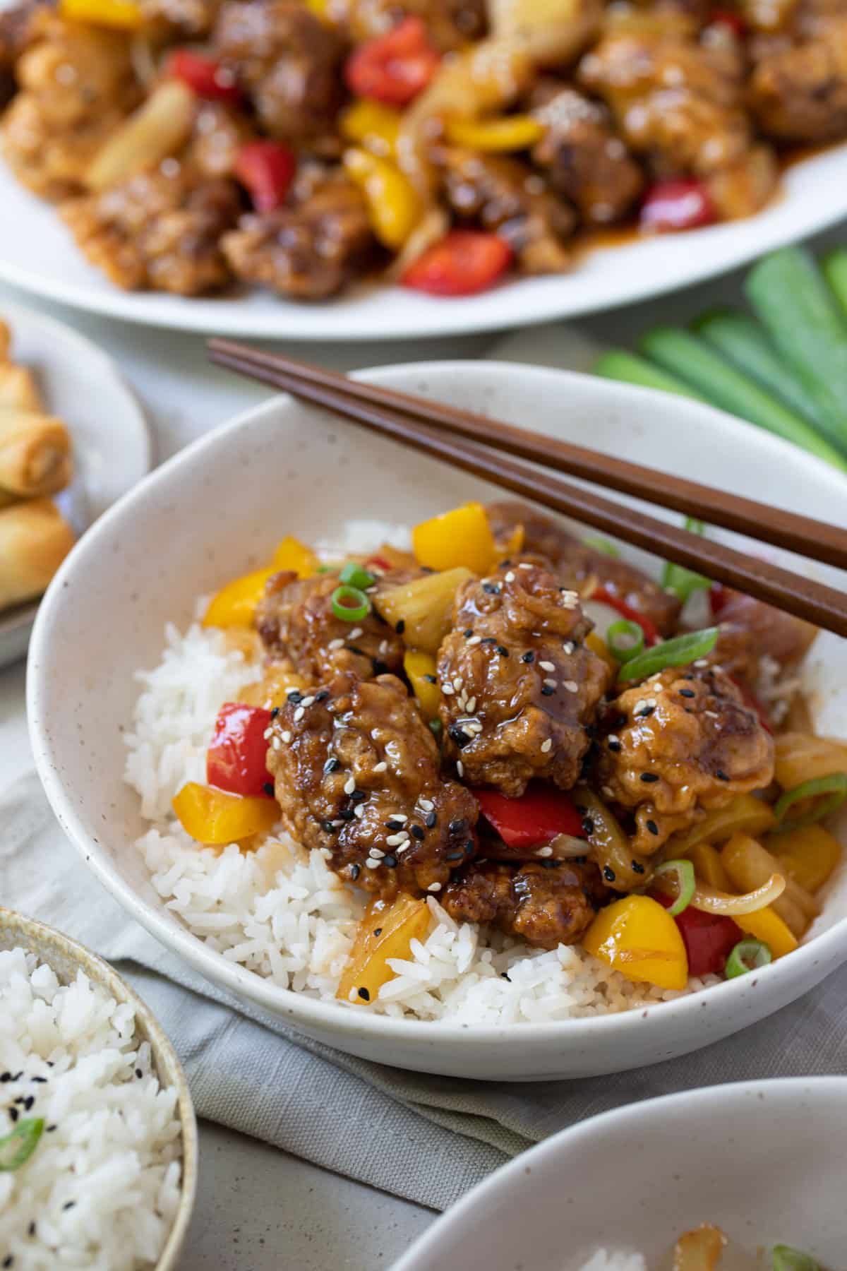
[(281, 353), (265, 353), (227, 339), (211, 339), (208, 352), (218, 366), (334, 411), (373, 432), (444, 459), (464, 472), (706, 574), (715, 582), (776, 605), (838, 636), (847, 636), (847, 597), (833, 587), (622, 507), (613, 500), (563, 480), (555, 473), (611, 487), (844, 569), (847, 533), (838, 526), (444, 403), (350, 380)]

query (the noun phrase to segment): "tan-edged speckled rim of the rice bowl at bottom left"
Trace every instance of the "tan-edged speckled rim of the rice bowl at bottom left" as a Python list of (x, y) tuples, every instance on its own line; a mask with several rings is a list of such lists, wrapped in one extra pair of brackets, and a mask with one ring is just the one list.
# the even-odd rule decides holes
[[(8, 934), (11, 935), (11, 943), (6, 939)], [(177, 1271), (197, 1195), (198, 1160), (197, 1117), (194, 1116), (194, 1104), (185, 1074), (177, 1059), (177, 1051), (150, 1008), (145, 1005), (138, 994), (121, 979), (108, 962), (104, 962), (97, 953), (91, 953), (79, 941), (74, 941), (70, 935), (57, 932), (53, 927), (48, 927), (36, 918), (27, 918), (24, 914), (18, 914), (13, 909), (4, 909), (0, 905), (0, 949), (17, 947), (27, 949), (28, 953), (43, 957), (50, 965), (58, 963), (60, 961), (76, 963), (90, 980), (110, 993), (117, 1002), (132, 1007), (136, 1017), (136, 1027), (143, 1040), (150, 1042), (160, 1083), (165, 1087), (177, 1087), (177, 1106), (179, 1108), (179, 1124), (183, 1138), (183, 1177), (179, 1209), (165, 1240), (165, 1247), (161, 1251), (161, 1257), (155, 1266), (155, 1271)]]

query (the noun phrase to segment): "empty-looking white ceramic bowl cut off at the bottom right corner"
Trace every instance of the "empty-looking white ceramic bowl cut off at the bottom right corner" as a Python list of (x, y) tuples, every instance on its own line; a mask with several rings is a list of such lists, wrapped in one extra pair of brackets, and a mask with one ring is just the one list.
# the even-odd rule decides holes
[[(392, 1271), (578, 1271), (597, 1248), (664, 1267), (676, 1238), (701, 1223), (747, 1254), (791, 1244), (843, 1271), (846, 1136), (843, 1077), (645, 1099), (503, 1166)], [(739, 1263), (728, 1254), (724, 1265)]]

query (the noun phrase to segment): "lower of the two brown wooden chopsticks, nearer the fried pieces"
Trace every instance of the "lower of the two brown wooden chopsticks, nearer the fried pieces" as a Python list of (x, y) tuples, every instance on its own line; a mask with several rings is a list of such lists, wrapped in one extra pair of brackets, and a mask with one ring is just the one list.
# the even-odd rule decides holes
[(334, 411), (364, 425), (371, 431), (424, 454), (446, 459), (453, 466), (475, 477), (485, 477), (516, 494), (551, 507), (556, 512), (571, 516), (677, 564), (705, 573), (716, 582), (723, 582), (738, 591), (756, 596), (758, 600), (776, 605), (778, 609), (796, 614), (817, 627), (823, 627), (838, 636), (847, 636), (847, 597), (833, 587), (813, 582), (810, 578), (791, 573), (778, 566), (748, 557), (734, 548), (690, 534), (687, 530), (632, 508), (622, 507), (592, 491), (573, 486), (570, 482), (563, 480), (561, 477), (538, 472), (537, 468), (531, 468), (521, 460), (508, 459), (476, 442), (465, 441), (451, 433), (437, 432), (427, 425), (410, 419), (396, 408), (371, 402), (368, 397), (362, 394), (348, 393), (348, 385), (354, 381), (348, 381), (344, 376), (340, 376), (340, 384), (315, 383), (312, 379), (301, 379), (291, 369), (296, 364), (290, 360), (283, 360), (283, 367), (277, 367), (273, 355), (260, 353), (254, 357), (253, 350), (234, 347), (229, 342), (226, 342), (227, 347), (222, 348), (222, 343), (216, 341), (213, 347), (210, 346), (210, 356), (220, 366), (226, 366), (249, 379), (260, 380), (315, 405)]

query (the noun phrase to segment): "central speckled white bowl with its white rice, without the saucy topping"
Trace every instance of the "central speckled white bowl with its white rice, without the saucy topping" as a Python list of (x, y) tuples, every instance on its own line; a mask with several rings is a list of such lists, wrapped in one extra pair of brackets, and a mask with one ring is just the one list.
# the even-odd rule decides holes
[[(508, 364), (363, 375), (844, 524), (839, 473), (697, 403)], [(204, 596), (264, 564), (284, 535), (325, 555), (367, 552), (498, 493), (284, 397), (196, 442), (98, 521), (41, 606), (28, 669), (39, 775), (83, 859), (135, 919), (211, 981), (326, 1045), (491, 1080), (657, 1063), (756, 1023), (844, 961), (844, 868), (789, 957), (683, 991), (634, 984), (575, 946), (516, 947), (453, 923), (429, 896), (428, 933), (362, 1007), (337, 993), (366, 897), (286, 835), (254, 850), (202, 848), (173, 816), (178, 791), (204, 780), (218, 708), (262, 674), (198, 624)], [(659, 576), (655, 558), (630, 555)], [(837, 571), (822, 574), (843, 586)], [(844, 735), (846, 649), (822, 633), (803, 667), (824, 736)]]

